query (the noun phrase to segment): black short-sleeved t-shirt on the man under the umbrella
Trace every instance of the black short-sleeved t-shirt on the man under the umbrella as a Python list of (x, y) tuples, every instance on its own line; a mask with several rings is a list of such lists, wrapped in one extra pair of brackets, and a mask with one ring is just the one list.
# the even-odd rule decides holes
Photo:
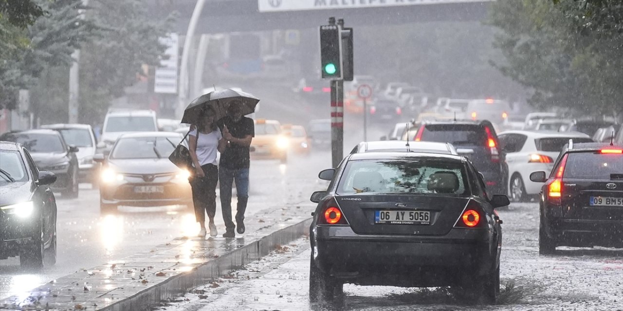
[[(255, 137), (255, 125), (253, 119), (242, 117), (238, 122), (234, 122), (229, 116), (220, 119), (217, 122), (219, 128), (223, 129), (226, 125), (232, 136), (236, 138), (244, 138), (247, 135)], [(225, 152), (221, 154), (220, 165), (227, 169), (248, 169), (249, 168), (249, 147), (240, 146), (239, 144), (230, 144)]]

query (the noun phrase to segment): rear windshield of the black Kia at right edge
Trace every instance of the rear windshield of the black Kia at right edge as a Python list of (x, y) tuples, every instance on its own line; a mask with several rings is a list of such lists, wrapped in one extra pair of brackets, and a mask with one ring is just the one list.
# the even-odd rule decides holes
[(581, 152), (569, 154), (563, 178), (610, 180), (611, 174), (623, 174), (622, 154)]

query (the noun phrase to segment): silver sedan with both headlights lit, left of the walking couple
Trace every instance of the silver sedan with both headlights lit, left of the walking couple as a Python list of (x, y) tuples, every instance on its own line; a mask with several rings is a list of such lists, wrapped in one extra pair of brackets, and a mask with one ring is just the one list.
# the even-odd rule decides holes
[(192, 209), (191, 173), (168, 159), (181, 139), (182, 134), (174, 132), (126, 133), (118, 137), (108, 156), (95, 155), (102, 162), (100, 211), (109, 213), (119, 205)]

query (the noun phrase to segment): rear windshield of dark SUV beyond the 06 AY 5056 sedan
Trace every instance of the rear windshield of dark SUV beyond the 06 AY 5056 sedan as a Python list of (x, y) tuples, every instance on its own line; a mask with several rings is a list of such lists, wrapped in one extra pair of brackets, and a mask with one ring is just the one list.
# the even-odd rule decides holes
[(427, 125), (421, 136), (422, 141), (450, 142), (455, 145), (482, 145), (487, 141), (487, 133), (481, 126), (464, 124)]

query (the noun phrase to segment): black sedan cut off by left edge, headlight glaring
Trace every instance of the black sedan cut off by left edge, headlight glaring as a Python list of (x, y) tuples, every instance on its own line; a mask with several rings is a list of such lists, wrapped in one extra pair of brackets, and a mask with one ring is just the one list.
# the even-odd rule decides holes
[(56, 177), (37, 170), (24, 146), (0, 141), (0, 259), (22, 267), (56, 262)]

